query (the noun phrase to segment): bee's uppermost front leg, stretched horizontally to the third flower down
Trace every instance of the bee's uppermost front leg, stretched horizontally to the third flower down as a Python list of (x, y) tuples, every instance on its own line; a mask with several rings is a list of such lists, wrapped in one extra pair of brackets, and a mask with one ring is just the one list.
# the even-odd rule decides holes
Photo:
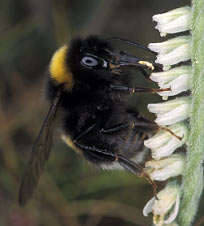
[(165, 92), (165, 91), (171, 91), (171, 88), (166, 89), (151, 89), (151, 88), (142, 88), (142, 87), (127, 87), (127, 86), (119, 86), (119, 85), (110, 85), (110, 88), (114, 91), (120, 91), (124, 93), (158, 93), (158, 92)]

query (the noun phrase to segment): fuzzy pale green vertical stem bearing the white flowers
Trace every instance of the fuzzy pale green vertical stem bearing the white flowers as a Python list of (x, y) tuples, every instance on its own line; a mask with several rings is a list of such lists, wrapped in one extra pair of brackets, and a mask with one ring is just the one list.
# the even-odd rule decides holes
[(179, 226), (191, 225), (203, 190), (204, 160), (204, 1), (192, 0), (192, 104)]

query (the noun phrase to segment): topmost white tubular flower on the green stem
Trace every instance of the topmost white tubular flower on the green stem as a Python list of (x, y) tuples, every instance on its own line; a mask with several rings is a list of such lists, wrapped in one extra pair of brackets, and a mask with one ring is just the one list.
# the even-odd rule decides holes
[(154, 15), (153, 20), (158, 23), (155, 28), (159, 30), (160, 35), (166, 36), (167, 33), (172, 34), (189, 30), (190, 17), (190, 7), (186, 6)]

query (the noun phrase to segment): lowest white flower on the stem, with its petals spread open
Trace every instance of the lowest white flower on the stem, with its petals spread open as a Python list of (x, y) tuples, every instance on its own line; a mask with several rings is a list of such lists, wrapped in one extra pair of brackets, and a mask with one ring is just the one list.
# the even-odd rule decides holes
[(169, 183), (157, 194), (158, 200), (153, 197), (143, 209), (143, 215), (153, 213), (153, 222), (156, 226), (173, 223), (180, 204), (180, 188), (175, 183)]

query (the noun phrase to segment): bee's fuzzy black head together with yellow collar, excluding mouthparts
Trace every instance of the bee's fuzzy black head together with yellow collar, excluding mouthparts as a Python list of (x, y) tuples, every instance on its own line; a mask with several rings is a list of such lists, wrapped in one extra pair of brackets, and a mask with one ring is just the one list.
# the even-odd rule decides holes
[(110, 44), (96, 36), (76, 38), (57, 50), (51, 60), (50, 77), (71, 90), (76, 81), (111, 79)]

